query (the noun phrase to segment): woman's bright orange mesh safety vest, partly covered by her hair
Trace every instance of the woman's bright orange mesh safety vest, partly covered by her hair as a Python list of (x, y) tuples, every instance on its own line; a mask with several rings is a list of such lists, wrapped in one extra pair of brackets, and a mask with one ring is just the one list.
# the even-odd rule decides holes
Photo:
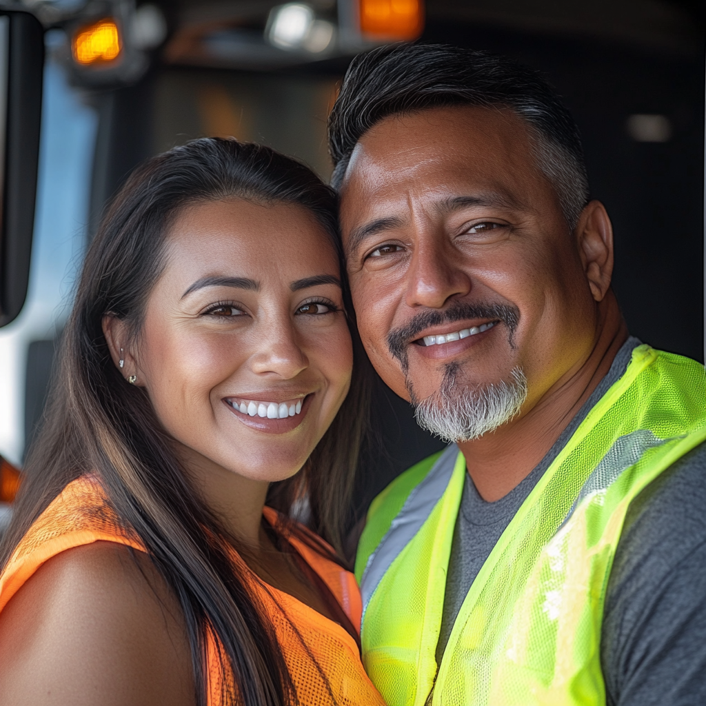
[[(276, 526), (277, 512), (265, 508)], [(277, 527), (277, 531), (280, 530)], [(343, 611), (360, 628), (361, 598), (352, 573), (287, 534), (287, 541), (328, 586)], [(66, 486), (30, 527), (0, 575), (0, 611), (35, 571), (61, 551), (92, 542), (116, 542), (145, 551), (140, 540), (117, 522), (97, 479), (84, 476)], [(234, 554), (234, 561), (241, 559)], [(337, 623), (289, 594), (263, 585), (256, 575), (251, 590), (273, 621), (289, 674), (302, 706), (385, 706), (361, 663), (355, 640)], [(313, 659), (312, 659), (313, 658)], [(314, 661), (315, 660), (315, 661)], [(217, 706), (220, 686), (217, 650), (208, 649), (209, 706)], [(215, 677), (215, 678), (214, 678)]]

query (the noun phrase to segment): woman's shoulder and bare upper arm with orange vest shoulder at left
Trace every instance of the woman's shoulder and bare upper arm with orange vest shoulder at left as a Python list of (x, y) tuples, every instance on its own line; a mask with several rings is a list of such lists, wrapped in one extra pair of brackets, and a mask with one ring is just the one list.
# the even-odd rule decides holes
[(181, 610), (135, 549), (90, 475), (35, 520), (0, 576), (1, 706), (49, 694), (72, 705), (97, 694), (104, 704), (193, 703)]

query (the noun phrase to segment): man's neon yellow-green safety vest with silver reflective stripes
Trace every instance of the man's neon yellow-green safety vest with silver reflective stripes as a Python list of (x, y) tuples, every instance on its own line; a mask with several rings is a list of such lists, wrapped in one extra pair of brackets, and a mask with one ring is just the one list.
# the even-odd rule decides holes
[(356, 564), (363, 662), (388, 705), (604, 705), (603, 606), (628, 507), (705, 440), (703, 367), (635, 348), (491, 551), (441, 664), (465, 461), (452, 445), (398, 477), (371, 505)]

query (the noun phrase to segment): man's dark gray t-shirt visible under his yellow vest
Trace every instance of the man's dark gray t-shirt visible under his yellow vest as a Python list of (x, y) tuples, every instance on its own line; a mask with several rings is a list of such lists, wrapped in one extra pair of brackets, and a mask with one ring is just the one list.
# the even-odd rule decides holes
[[(542, 474), (626, 371), (630, 337), (537, 467), (494, 503), (466, 483), (454, 530), (437, 662), (468, 590)], [(601, 660), (609, 706), (706, 704), (706, 443), (635, 498), (606, 593)]]

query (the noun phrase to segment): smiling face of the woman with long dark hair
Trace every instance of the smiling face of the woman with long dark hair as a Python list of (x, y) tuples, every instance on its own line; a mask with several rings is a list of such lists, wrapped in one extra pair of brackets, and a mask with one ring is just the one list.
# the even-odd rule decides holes
[(296, 473), (349, 388), (352, 345), (330, 237), (297, 205), (193, 205), (167, 239), (133, 351), (187, 467)]

